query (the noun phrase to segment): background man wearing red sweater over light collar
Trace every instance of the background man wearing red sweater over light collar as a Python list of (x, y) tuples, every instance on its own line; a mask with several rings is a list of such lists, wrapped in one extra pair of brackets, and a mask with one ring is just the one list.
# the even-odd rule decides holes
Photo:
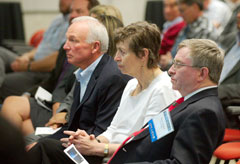
[(172, 64), (172, 56), (170, 53), (172, 46), (178, 33), (185, 26), (185, 23), (180, 16), (177, 0), (164, 0), (163, 4), (163, 13), (166, 22), (163, 24), (159, 64), (162, 70), (168, 70)]

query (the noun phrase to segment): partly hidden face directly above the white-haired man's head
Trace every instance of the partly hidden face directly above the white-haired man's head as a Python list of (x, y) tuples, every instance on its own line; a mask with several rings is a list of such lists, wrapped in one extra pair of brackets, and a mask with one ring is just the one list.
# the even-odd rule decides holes
[(89, 15), (88, 4), (88, 0), (73, 0), (70, 9), (70, 22), (76, 17)]

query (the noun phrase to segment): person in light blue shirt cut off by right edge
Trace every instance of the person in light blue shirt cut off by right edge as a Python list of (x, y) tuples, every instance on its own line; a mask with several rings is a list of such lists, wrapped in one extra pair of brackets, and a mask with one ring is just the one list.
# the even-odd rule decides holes
[[(240, 11), (235, 19), (237, 20), (238, 33), (235, 36), (235, 43), (227, 50), (224, 57), (224, 65), (218, 87), (219, 98), (224, 109), (231, 105), (240, 106)], [(228, 113), (227, 110), (225, 112), (228, 118), (228, 127), (239, 128), (238, 122), (234, 119), (236, 117)]]

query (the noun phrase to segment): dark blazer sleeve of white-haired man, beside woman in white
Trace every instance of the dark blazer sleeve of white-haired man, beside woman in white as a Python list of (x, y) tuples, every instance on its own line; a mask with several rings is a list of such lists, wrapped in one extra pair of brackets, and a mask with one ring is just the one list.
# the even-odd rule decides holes
[[(109, 83), (106, 84), (106, 81)], [(127, 80), (114, 75), (105, 79), (105, 85), (99, 90), (98, 111), (95, 126), (88, 130), (89, 134), (100, 135), (110, 125), (121, 100)]]

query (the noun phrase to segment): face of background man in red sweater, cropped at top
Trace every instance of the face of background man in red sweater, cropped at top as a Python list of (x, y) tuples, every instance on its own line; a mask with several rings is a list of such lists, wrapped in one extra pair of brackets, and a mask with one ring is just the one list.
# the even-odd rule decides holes
[(180, 13), (176, 0), (164, 0), (164, 17), (167, 21), (173, 21)]

